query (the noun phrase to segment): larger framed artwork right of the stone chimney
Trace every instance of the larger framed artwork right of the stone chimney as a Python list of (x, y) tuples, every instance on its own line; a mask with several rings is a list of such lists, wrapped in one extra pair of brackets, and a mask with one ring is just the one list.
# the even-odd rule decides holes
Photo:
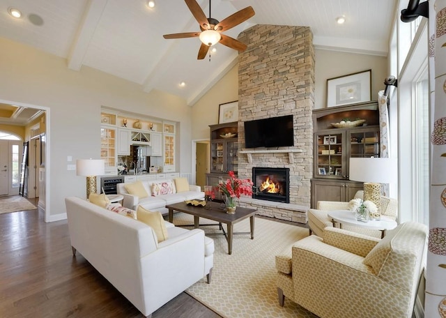
[(327, 107), (370, 101), (371, 70), (327, 79)]

